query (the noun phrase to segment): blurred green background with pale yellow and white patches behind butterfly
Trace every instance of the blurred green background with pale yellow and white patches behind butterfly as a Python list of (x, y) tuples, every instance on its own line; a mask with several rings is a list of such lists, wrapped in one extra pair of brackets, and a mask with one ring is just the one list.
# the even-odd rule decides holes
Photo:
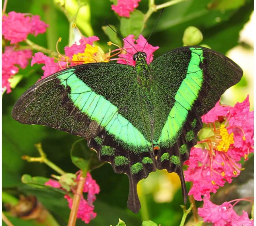
[[(73, 41), (69, 38), (70, 23), (60, 6), (63, 2), (66, 2), (66, 12), (71, 18), (79, 3), (75, 0), (24, 0), (22, 4), (17, 0), (9, 0), (6, 12), (16, 11), (40, 15), (41, 19), (49, 24), (47, 32), (37, 37), (31, 35), (28, 38), (38, 45), (55, 50), (58, 38), (62, 37), (59, 50), (63, 52), (63, 48)], [(166, 1), (156, 0), (155, 4), (159, 5), (164, 2)], [(140, 21), (141, 14), (139, 13), (138, 22), (127, 26), (126, 19), (120, 18), (111, 10), (113, 4), (111, 1), (92, 0), (80, 1), (80, 3), (86, 3), (86, 6), (77, 17), (77, 26), (86, 36), (98, 36), (100, 41), (97, 44), (105, 52), (109, 48), (106, 43), (110, 40), (102, 29), (102, 26), (106, 26), (105, 19), (124, 36), (130, 34), (131, 31), (138, 36), (142, 28), (143, 36), (148, 37), (160, 13), (160, 10), (153, 13), (145, 24)], [(137, 10), (145, 14), (148, 10), (148, 1), (141, 0)], [(200, 44), (206, 44), (213, 50), (227, 54), (244, 70), (242, 80), (223, 95), (223, 103), (234, 105), (250, 94), (251, 109), (253, 109), (253, 62), (251, 61), (253, 41), (250, 37), (251, 33), (248, 32), (252, 30), (252, 27), (250, 28), (253, 23), (252, 12), (252, 0), (182, 1), (164, 10), (149, 43), (160, 47), (154, 53), (156, 58), (168, 50), (183, 46), (182, 37), (188, 26), (199, 28), (203, 34), (203, 41)], [(247, 23), (249, 23), (247, 28), (241, 32)], [(76, 34), (72, 38), (75, 37)], [(35, 195), (59, 225), (67, 225), (70, 210), (63, 194), (49, 189), (31, 187), (21, 182), (23, 174), (49, 178), (54, 173), (44, 164), (28, 163), (21, 159), (22, 155), (38, 156), (34, 144), (39, 142), (42, 143), (48, 159), (56, 165), (66, 172), (74, 173), (78, 170), (71, 162), (70, 149), (71, 145), (80, 139), (79, 137), (40, 125), (23, 125), (11, 118), (11, 109), (18, 97), (42, 76), (42, 66), (28, 66), (20, 70), (22, 80), (10, 94), (3, 95), (2, 203), (15, 203), (15, 199), (20, 194)], [(133, 214), (127, 209), (129, 183), (126, 175), (115, 174), (108, 163), (93, 170), (91, 174), (99, 184), (101, 191), (94, 202), (97, 217), (89, 225), (115, 225), (118, 218), (125, 221), (127, 225), (141, 225), (142, 220), (147, 219), (163, 226), (179, 225), (183, 214), (179, 206), (183, 204), (183, 198), (180, 182), (175, 174), (168, 174), (164, 170), (156, 171), (139, 183), (138, 190), (142, 204), (139, 214)], [(200, 202), (197, 206), (200, 206)], [(3, 209), (5, 210), (5, 206)], [(24, 221), (14, 218), (9, 213), (6, 215), (14, 225), (42, 225), (34, 220)], [(78, 220), (77, 225), (84, 225), (84, 223)]]

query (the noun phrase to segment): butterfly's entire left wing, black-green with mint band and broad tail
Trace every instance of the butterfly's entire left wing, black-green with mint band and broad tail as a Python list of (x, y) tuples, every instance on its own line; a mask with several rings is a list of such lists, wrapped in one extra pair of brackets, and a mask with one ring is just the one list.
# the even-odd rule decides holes
[(55, 73), (26, 91), (13, 107), (15, 120), (87, 138), (88, 146), (117, 173), (129, 177), (128, 207), (140, 209), (137, 183), (156, 170), (147, 103), (134, 67), (84, 64)]

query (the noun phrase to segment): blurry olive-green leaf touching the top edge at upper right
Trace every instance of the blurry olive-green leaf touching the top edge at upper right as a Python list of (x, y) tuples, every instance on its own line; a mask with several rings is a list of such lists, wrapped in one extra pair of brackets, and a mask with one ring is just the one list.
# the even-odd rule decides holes
[(208, 8), (216, 10), (236, 9), (243, 6), (244, 3), (245, 0), (214, 0), (208, 4)]

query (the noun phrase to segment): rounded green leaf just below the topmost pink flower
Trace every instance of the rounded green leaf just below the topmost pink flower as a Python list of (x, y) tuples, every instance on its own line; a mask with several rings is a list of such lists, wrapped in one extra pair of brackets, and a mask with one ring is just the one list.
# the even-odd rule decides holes
[(144, 28), (144, 14), (139, 10), (134, 10), (130, 14), (130, 18), (122, 17), (120, 20), (120, 31), (124, 37), (135, 35), (138, 37)]

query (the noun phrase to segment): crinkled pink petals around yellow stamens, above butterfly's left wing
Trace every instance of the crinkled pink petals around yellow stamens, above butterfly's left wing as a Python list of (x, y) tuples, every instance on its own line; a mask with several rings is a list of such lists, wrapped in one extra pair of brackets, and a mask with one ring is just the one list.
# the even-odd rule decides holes
[[(68, 57), (69, 59), (72, 59), (74, 54), (78, 54), (80, 52), (84, 52), (84, 49), (86, 48), (86, 44), (90, 44), (92, 45), (93, 42), (100, 40), (98, 37), (96, 36), (92, 36), (92, 37), (82, 37), (79, 42), (80, 44), (73, 44), (72, 46), (66, 46), (64, 48), (65, 51), (65, 57)], [(56, 73), (58, 71), (61, 71), (65, 68), (67, 68), (67, 61), (65, 60), (65, 57), (62, 57), (61, 60), (62, 61), (58, 61), (55, 62), (54, 57), (48, 57), (46, 55), (44, 55), (42, 52), (37, 52), (33, 57), (32, 57), (32, 61), (31, 61), (31, 66), (33, 66), (35, 63), (37, 64), (44, 64), (44, 66), (42, 67), (42, 70), (44, 71), (44, 75), (42, 76), (41, 79), (46, 78), (47, 76)], [(74, 66), (74, 65), (79, 65), (82, 64), (83, 62), (77, 62), (77, 63), (70, 63), (70, 66)], [(40, 79), (40, 80), (41, 80)]]

